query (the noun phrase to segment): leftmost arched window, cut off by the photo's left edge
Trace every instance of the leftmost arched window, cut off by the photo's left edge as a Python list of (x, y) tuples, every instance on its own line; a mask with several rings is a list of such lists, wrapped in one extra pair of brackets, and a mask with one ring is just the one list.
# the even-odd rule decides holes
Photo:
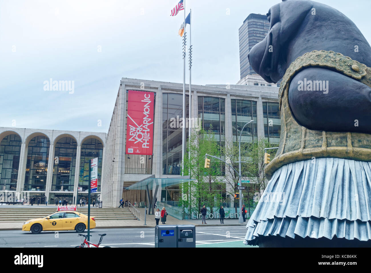
[(9, 134), (0, 143), (0, 191), (16, 191), (22, 141)]

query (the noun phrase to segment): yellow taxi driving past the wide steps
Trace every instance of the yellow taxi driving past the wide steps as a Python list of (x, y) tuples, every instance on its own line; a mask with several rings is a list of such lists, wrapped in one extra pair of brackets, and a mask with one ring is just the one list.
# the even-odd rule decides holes
[[(90, 217), (90, 228), (95, 228), (95, 217)], [(88, 227), (88, 216), (77, 211), (57, 211), (44, 218), (28, 220), (23, 223), (22, 231), (31, 231), (33, 234), (41, 231), (75, 230), (85, 231)]]

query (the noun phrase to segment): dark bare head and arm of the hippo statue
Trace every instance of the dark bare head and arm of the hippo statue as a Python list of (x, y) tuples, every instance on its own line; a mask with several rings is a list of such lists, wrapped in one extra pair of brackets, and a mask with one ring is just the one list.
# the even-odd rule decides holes
[[(344, 14), (310, 0), (283, 0), (267, 13), (267, 36), (249, 52), (252, 68), (279, 81), (290, 64), (312, 51), (334, 51), (371, 66), (371, 47)], [(299, 82), (328, 83), (324, 92), (300, 91)], [(326, 67), (305, 68), (289, 84), (289, 105), (298, 124), (323, 131), (371, 134), (371, 88)]]

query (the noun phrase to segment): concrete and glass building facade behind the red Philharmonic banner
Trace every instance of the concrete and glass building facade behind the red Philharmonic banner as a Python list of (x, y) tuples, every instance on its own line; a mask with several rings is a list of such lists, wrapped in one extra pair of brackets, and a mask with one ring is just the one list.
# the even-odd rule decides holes
[[(128, 90), (155, 93), (152, 156), (125, 154)], [(260, 85), (192, 85), (191, 117), (202, 118), (204, 126), (212, 124), (221, 142), (237, 140), (237, 134), (246, 121), (254, 119), (255, 123), (245, 128), (242, 141), (266, 138), (271, 143), (278, 143), (278, 90), (277, 87)], [(103, 173), (102, 200), (106, 206), (118, 206), (123, 196), (131, 202), (145, 201), (145, 191), (125, 191), (135, 182), (152, 175), (155, 178), (181, 175), (178, 167), (181, 164), (182, 134), (181, 130), (170, 128), (169, 124), (171, 118), (182, 116), (182, 94), (183, 84), (180, 83), (122, 78), (105, 145), (108, 152), (104, 162), (109, 166)], [(188, 85), (186, 94), (188, 115)], [(155, 198), (158, 201), (171, 200), (172, 189), (167, 190), (158, 189)]]

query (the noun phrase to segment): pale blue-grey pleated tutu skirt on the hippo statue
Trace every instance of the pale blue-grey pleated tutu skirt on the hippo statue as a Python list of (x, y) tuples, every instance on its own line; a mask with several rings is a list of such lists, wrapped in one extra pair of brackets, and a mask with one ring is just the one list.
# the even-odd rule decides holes
[(371, 162), (318, 158), (282, 166), (246, 228), (249, 245), (269, 235), (371, 240)]

